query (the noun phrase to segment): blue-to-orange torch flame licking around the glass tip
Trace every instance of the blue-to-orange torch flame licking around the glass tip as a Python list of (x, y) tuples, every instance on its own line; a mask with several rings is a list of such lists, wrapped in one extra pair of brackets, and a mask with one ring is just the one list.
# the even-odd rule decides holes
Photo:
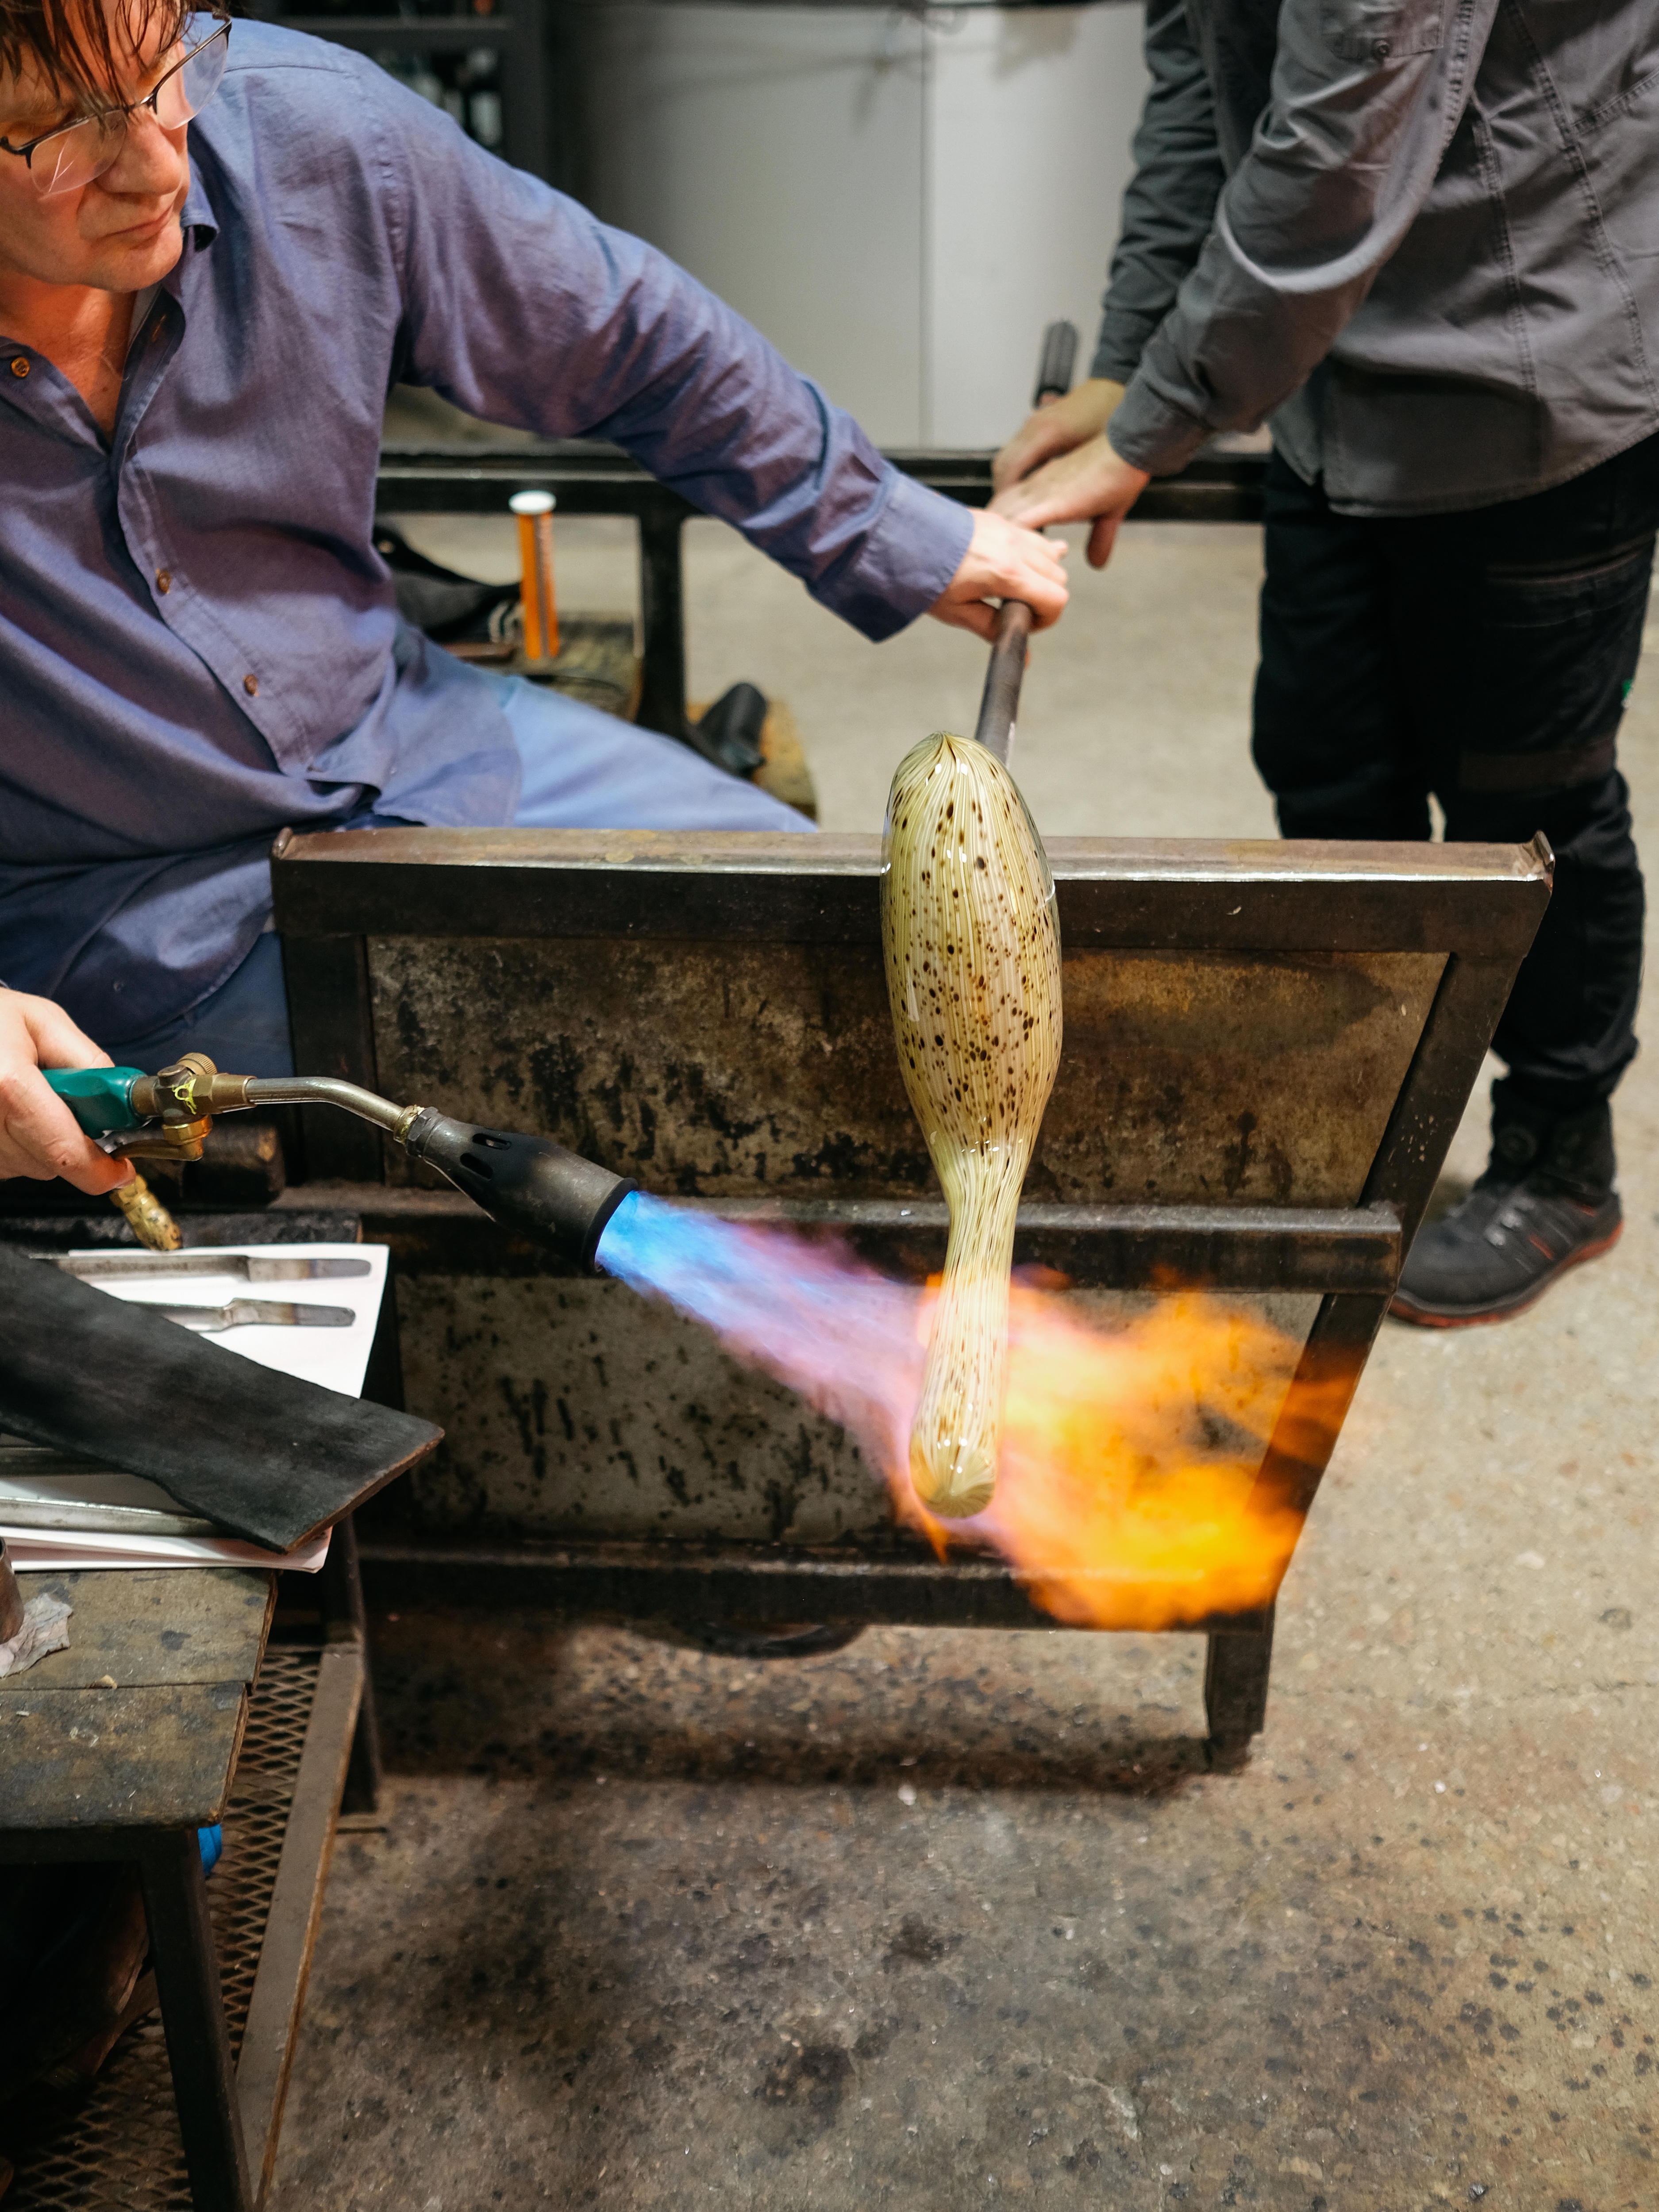
[(1338, 1358), (1298, 1376), (1301, 1345), (1245, 1298), (1166, 1290), (1119, 1318), (1060, 1276), (1020, 1274), (995, 1498), (945, 1524), (909, 1482), (933, 1292), (836, 1243), (644, 1194), (613, 1217), (599, 1263), (843, 1422), (940, 1557), (995, 1551), (1079, 1626), (1172, 1628), (1270, 1604), (1301, 1533), (1294, 1486), (1325, 1464), (1358, 1371)]

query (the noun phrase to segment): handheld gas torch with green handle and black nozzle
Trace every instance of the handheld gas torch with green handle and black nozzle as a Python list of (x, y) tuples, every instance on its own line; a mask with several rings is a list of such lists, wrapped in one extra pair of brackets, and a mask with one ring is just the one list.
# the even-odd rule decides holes
[(201, 1159), (215, 1115), (248, 1106), (341, 1106), (374, 1121), (411, 1159), (447, 1177), (493, 1221), (529, 1230), (593, 1267), (604, 1225), (635, 1190), (622, 1175), (549, 1137), (451, 1121), (431, 1106), (396, 1106), (330, 1075), (221, 1075), (206, 1053), (170, 1068), (42, 1068), (88, 1137), (117, 1159)]

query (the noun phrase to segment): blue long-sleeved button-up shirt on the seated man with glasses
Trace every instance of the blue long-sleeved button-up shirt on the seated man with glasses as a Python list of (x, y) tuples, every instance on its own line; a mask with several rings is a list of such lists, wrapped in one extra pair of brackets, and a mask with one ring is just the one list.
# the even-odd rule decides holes
[(239, 20), (190, 157), (108, 442), (0, 338), (0, 975), (108, 1046), (232, 973), (285, 823), (511, 821), (495, 688), (398, 624), (372, 544), (394, 383), (613, 438), (867, 637), (971, 533), (684, 270), (358, 55)]

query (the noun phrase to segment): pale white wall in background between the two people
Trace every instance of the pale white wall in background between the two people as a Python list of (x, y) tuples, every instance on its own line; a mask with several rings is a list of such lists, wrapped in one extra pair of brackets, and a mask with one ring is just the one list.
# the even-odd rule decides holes
[(1141, 13), (573, 11), (595, 210), (757, 323), (883, 445), (998, 445), (1042, 325), (1095, 334)]

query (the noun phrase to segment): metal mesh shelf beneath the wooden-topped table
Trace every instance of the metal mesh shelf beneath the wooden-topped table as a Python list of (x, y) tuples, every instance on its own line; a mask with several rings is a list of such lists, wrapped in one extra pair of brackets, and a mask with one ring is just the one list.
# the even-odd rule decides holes
[[(321, 1661), (314, 1648), (265, 1650), (226, 1807), (226, 1856), (208, 1882), (234, 2055), (265, 1944)], [(75, 2110), (42, 2112), (40, 2132), (7, 2150), (18, 2161), (7, 2212), (190, 2212), (161, 2015), (146, 2013), (128, 2028)]]

